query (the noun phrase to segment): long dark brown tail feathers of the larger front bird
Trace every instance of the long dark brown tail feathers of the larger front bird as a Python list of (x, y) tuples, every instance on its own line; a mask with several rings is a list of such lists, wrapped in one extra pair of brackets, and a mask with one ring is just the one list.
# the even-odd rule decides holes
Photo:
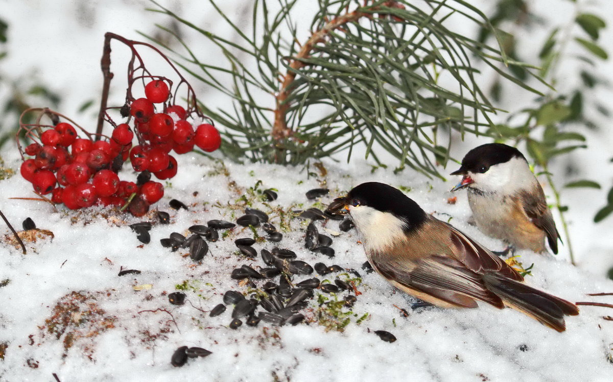
[(528, 315), (558, 332), (566, 330), (564, 316), (576, 316), (579, 309), (566, 300), (518, 281), (489, 273), (483, 281), (487, 289), (500, 297), (504, 305)]

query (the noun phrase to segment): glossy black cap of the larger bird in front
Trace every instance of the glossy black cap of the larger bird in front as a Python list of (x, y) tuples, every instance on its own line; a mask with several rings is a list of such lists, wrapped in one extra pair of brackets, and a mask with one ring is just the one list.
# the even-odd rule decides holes
[(427, 218), (424, 210), (402, 191), (376, 181), (369, 181), (354, 187), (347, 194), (346, 201), (348, 204), (359, 201), (360, 205), (392, 213), (397, 218), (406, 221), (405, 231), (411, 231), (420, 226)]

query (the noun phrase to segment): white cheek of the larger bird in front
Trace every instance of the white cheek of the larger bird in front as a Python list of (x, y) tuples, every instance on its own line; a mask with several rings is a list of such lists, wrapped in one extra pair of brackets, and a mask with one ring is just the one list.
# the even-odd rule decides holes
[(404, 235), (406, 223), (391, 213), (367, 206), (350, 207), (349, 213), (367, 252), (384, 251)]

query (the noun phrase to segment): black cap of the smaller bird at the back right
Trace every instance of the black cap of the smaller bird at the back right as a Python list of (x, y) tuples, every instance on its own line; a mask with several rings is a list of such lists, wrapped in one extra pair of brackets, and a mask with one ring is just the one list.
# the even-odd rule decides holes
[(495, 164), (506, 163), (516, 157), (526, 159), (517, 148), (504, 143), (486, 143), (468, 151), (462, 159), (460, 169), (455, 170), (451, 175), (466, 175), (468, 171), (482, 173)]

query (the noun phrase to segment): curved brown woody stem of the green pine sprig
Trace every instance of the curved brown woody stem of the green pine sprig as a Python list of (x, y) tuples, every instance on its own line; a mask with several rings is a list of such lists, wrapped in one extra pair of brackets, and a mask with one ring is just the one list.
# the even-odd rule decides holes
[[(289, 69), (286, 75), (283, 77), (281, 82), (280, 90), (275, 94), (275, 123), (272, 128), (272, 138), (275, 142), (280, 142), (288, 137), (291, 137), (294, 134), (294, 131), (287, 127), (287, 110), (289, 110), (289, 103), (286, 102), (287, 97), (291, 94), (294, 88), (292, 87), (292, 83), (295, 80), (296, 72), (305, 66), (302, 59), (308, 58), (311, 52), (314, 50), (315, 45), (319, 42), (325, 42), (326, 36), (336, 29), (340, 29), (345, 31), (342, 28), (343, 25), (347, 23), (352, 23), (354, 21), (359, 20), (362, 17), (373, 17), (373, 11), (381, 10), (381, 5), (392, 8), (403, 8), (402, 4), (398, 4), (394, 0), (386, 1), (378, 6), (366, 7), (366, 2), (364, 7), (353, 10), (352, 12), (346, 13), (345, 15), (340, 15), (334, 18), (331, 21), (327, 21), (326, 25), (323, 28), (319, 29), (316, 32), (313, 32), (311, 37), (307, 40), (307, 42), (302, 45), (300, 51), (292, 58), (291, 63), (289, 64)], [(384, 12), (379, 12), (384, 13)]]

